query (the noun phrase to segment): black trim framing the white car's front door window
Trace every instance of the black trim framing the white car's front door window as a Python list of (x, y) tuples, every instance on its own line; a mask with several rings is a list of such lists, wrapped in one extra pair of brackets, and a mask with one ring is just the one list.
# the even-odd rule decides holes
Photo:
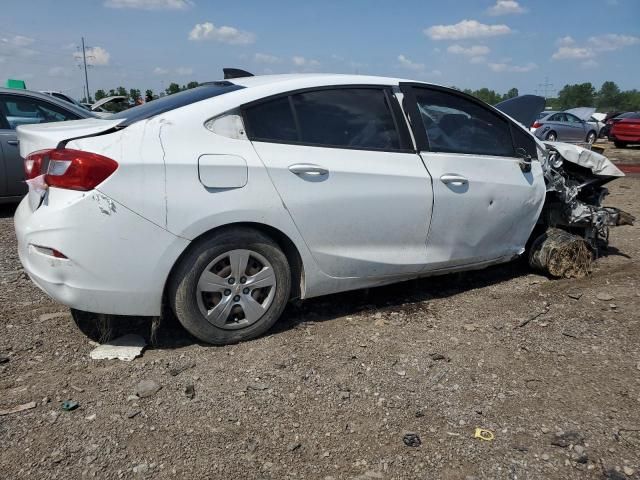
[[(512, 121), (509, 117), (507, 117), (503, 112), (501, 112), (500, 110), (498, 110), (497, 108), (483, 102), (482, 100), (474, 97), (473, 95), (469, 95), (468, 93), (462, 92), (460, 90), (456, 90), (455, 88), (448, 88), (448, 87), (443, 87), (440, 85), (430, 85), (427, 83), (418, 83), (418, 82), (401, 82), (400, 83), (400, 90), (402, 91), (402, 93), (405, 96), (405, 99), (407, 100), (407, 103), (405, 103), (405, 111), (407, 112), (407, 115), (409, 116), (409, 123), (411, 124), (411, 130), (413, 131), (413, 135), (414, 138), (416, 139), (416, 147), (418, 149), (418, 151), (422, 151), (422, 152), (431, 152), (431, 147), (429, 145), (429, 139), (427, 138), (427, 132), (426, 129), (424, 127), (424, 124), (422, 123), (422, 116), (420, 115), (420, 112), (418, 111), (418, 102), (416, 100), (416, 95), (414, 92), (414, 88), (421, 88), (421, 89), (426, 89), (426, 90), (435, 90), (438, 92), (443, 92), (443, 93), (449, 93), (452, 95), (457, 95), (459, 97), (462, 97), (466, 100), (469, 100), (472, 103), (475, 103), (476, 105), (478, 105), (479, 107), (483, 108), (484, 110), (487, 110), (495, 115), (498, 115), (500, 118), (502, 118), (503, 120), (505, 120), (507, 122), (507, 124), (509, 125), (509, 134), (511, 136), (511, 146), (513, 147), (513, 155), (489, 155), (489, 154), (477, 154), (477, 153), (452, 153), (453, 155), (474, 155), (474, 156), (482, 156), (482, 157), (501, 157), (501, 158), (513, 158), (513, 159), (517, 159), (520, 160), (520, 158), (518, 157), (517, 154), (517, 146), (516, 146), (516, 141), (515, 138), (513, 136), (513, 129), (514, 128), (518, 128), (521, 131), (523, 131), (524, 133), (526, 133), (527, 135), (531, 135), (531, 132), (527, 131), (525, 128), (523, 128), (521, 125), (518, 125), (516, 122)], [(535, 142), (535, 140), (534, 140)], [(437, 153), (437, 152), (434, 152)], [(451, 152), (447, 152), (447, 153), (451, 153)], [(536, 158), (533, 158), (533, 160), (537, 160)]]

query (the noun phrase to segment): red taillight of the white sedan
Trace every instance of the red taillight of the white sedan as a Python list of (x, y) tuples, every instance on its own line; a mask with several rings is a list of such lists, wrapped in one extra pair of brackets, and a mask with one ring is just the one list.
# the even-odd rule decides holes
[[(47, 171), (42, 172), (45, 160)], [(118, 163), (97, 153), (68, 148), (40, 150), (29, 154), (24, 161), (27, 179), (45, 173), (50, 187), (68, 190), (93, 190), (118, 168)]]

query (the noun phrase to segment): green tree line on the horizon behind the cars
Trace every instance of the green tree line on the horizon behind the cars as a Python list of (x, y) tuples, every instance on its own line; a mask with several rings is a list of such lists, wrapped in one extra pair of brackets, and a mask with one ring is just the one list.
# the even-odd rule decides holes
[[(165, 95), (172, 95), (183, 90), (195, 88), (198, 85), (198, 82), (189, 82), (180, 86), (180, 84), (172, 82), (166, 89), (158, 93), (151, 89), (145, 90), (144, 96), (142, 91), (137, 88), (127, 90), (124, 87), (118, 87), (109, 91), (100, 89), (96, 90), (95, 99), (97, 101), (109, 96), (122, 95), (128, 97), (134, 103), (139, 102), (141, 99), (144, 99), (145, 102), (150, 102)], [(495, 105), (519, 95), (517, 88), (511, 88), (504, 94), (488, 88), (480, 88), (478, 90), (465, 89), (463, 92), (473, 95), (490, 105)], [(612, 81), (604, 82), (600, 89), (596, 90), (593, 84), (587, 82), (565, 85), (558, 92), (557, 97), (547, 98), (547, 108), (552, 110), (566, 110), (573, 107), (596, 107), (600, 112), (640, 110), (640, 91), (636, 89), (620, 90), (620, 87)]]

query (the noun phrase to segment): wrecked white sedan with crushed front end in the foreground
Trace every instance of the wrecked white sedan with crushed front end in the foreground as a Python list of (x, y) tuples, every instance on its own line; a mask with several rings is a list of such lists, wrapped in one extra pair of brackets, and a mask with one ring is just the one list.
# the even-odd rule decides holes
[(166, 308), (232, 343), (294, 298), (506, 262), (545, 251), (548, 227), (592, 251), (632, 220), (601, 206), (621, 175), (608, 160), (523, 126), (539, 97), (507, 116), (393, 78), (228, 77), (108, 119), (18, 128), (20, 259), (81, 325)]

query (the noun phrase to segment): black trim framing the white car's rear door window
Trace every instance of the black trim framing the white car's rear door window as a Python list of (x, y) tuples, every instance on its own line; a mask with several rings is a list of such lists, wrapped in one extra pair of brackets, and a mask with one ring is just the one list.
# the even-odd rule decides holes
[[(381, 90), (385, 95), (385, 100), (389, 107), (389, 113), (391, 114), (391, 118), (393, 119), (393, 124), (398, 134), (398, 140), (400, 142), (400, 148), (365, 148), (365, 147), (352, 147), (345, 145), (325, 145), (311, 142), (304, 142), (301, 140), (301, 129), (300, 122), (298, 120), (298, 114), (296, 112), (295, 106), (293, 104), (293, 96), (300, 93), (308, 93), (308, 92), (317, 92), (323, 90), (352, 90), (352, 89), (371, 89), (371, 90)], [(288, 90), (286, 92), (276, 93), (274, 95), (270, 95), (268, 97), (262, 97), (257, 100), (252, 100), (251, 102), (244, 103), (240, 105), (240, 113), (242, 115), (242, 121), (244, 123), (245, 131), (247, 132), (247, 138), (252, 142), (264, 142), (264, 143), (276, 143), (276, 144), (284, 144), (284, 145), (295, 145), (295, 146), (304, 146), (304, 147), (318, 147), (318, 148), (331, 148), (331, 149), (341, 149), (341, 150), (362, 150), (362, 151), (372, 151), (372, 152), (393, 152), (393, 153), (417, 153), (417, 150), (414, 148), (413, 143), (411, 141), (411, 136), (409, 134), (407, 122), (402, 115), (402, 110), (400, 109), (400, 105), (398, 103), (397, 97), (393, 94), (393, 86), (391, 85), (375, 85), (375, 84), (340, 84), (340, 85), (321, 85), (316, 87), (306, 87), (299, 88), (296, 90)], [(288, 98), (289, 107), (291, 108), (291, 113), (293, 115), (293, 121), (296, 127), (298, 141), (294, 142), (291, 140), (270, 140), (270, 139), (260, 139), (254, 138), (251, 131), (251, 122), (249, 122), (246, 114), (246, 110), (255, 105), (260, 105), (262, 103), (267, 103), (269, 101), (277, 100), (279, 98)]]

